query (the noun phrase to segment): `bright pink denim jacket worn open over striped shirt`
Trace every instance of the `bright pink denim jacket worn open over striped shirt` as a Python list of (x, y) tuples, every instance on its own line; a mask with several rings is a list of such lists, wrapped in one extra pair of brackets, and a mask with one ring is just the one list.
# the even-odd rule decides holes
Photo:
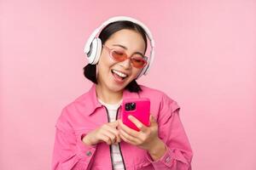
[[(119, 149), (127, 170), (191, 170), (192, 150), (189, 139), (179, 118), (177, 102), (166, 94), (140, 85), (140, 93), (125, 90), (125, 98), (150, 99), (150, 113), (157, 119), (159, 137), (166, 144), (166, 153), (153, 161), (146, 150), (121, 141)], [(120, 112), (118, 111), (118, 118)], [(82, 142), (82, 137), (91, 130), (108, 122), (105, 106), (96, 98), (96, 85), (89, 92), (79, 96), (61, 112), (55, 124), (55, 145), (52, 156), (52, 169), (65, 170), (108, 170), (113, 169), (111, 147), (106, 143), (93, 146)]]

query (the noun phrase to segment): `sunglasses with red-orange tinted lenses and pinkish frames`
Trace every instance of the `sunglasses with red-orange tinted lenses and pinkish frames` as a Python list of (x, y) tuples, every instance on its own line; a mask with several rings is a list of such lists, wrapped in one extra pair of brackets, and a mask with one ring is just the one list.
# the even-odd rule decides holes
[(109, 56), (118, 62), (125, 61), (125, 59), (130, 59), (131, 64), (138, 69), (141, 69), (145, 65), (147, 65), (148, 58), (146, 56), (143, 56), (141, 54), (133, 54), (129, 58), (128, 55), (125, 53), (125, 50), (123, 49), (118, 49), (118, 48), (110, 49), (106, 45), (102, 45), (102, 47), (106, 48), (108, 50)]

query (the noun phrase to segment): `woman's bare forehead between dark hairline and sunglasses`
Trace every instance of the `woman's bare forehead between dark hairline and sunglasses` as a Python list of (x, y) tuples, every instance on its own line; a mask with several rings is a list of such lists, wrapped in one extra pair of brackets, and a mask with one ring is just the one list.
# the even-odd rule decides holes
[(144, 52), (145, 42), (143, 36), (137, 31), (123, 29), (116, 31), (108, 38), (107, 42), (111, 44), (120, 44), (125, 46), (128, 50)]

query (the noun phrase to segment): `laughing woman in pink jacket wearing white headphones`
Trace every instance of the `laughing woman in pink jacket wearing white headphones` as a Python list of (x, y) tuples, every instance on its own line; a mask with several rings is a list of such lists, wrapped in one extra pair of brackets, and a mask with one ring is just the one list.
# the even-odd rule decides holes
[[(177, 102), (136, 82), (153, 61), (144, 56), (147, 37), (153, 41), (148, 28), (129, 17), (113, 17), (102, 27), (85, 46), (90, 64), (84, 76), (94, 84), (56, 122), (52, 169), (191, 169)], [(150, 99), (149, 127), (133, 116), (140, 131), (123, 124), (119, 108), (127, 98)]]

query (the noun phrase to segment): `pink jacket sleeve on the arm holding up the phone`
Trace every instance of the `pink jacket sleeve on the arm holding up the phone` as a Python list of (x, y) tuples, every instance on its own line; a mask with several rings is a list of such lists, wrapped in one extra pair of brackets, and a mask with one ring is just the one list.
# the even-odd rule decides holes
[(147, 153), (148, 161), (156, 170), (191, 170), (193, 152), (180, 120), (179, 110), (177, 102), (165, 94), (158, 116), (158, 133), (166, 144), (166, 153), (157, 161), (153, 161)]

